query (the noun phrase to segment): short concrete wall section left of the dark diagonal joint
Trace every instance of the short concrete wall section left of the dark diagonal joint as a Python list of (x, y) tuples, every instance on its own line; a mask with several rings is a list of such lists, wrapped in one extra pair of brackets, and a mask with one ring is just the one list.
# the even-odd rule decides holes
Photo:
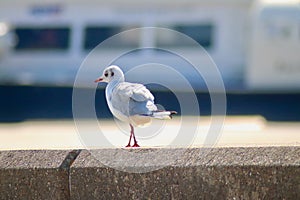
[(68, 199), (70, 151), (0, 151), (0, 199)]

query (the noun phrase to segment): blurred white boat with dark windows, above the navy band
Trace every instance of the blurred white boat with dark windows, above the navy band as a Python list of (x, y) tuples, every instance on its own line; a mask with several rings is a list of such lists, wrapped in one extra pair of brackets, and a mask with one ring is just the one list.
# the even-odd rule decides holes
[[(299, 0), (280, 2), (1, 1), (0, 84), (73, 86), (84, 59), (105, 39), (133, 28), (163, 27), (180, 31), (200, 43), (218, 67), (227, 90), (297, 90), (300, 89), (300, 3)], [(96, 77), (101, 73), (99, 65), (105, 64), (102, 58), (126, 49), (166, 47), (201, 59), (198, 51), (176, 37), (155, 29), (143, 30), (119, 38), (103, 47), (99, 56), (89, 57), (91, 74)], [(290, 31), (291, 35), (281, 37)], [(205, 81), (193, 76), (193, 70), (184, 66), (184, 61), (178, 62), (162, 51), (133, 52), (112, 62), (130, 71), (144, 61), (164, 60), (181, 70), (196, 90), (205, 90)], [(209, 68), (204, 70), (205, 78), (214, 78)], [(129, 74), (130, 81), (143, 82), (147, 77), (154, 83), (164, 79), (171, 85), (177, 84), (171, 76), (158, 74), (151, 68)], [(90, 74), (83, 80), (83, 87), (93, 81)]]

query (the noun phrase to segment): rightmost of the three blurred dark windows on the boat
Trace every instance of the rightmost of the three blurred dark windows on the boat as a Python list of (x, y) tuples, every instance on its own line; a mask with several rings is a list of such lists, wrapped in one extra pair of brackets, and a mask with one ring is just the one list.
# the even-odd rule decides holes
[[(201, 24), (201, 25), (174, 25), (168, 27), (172, 30), (186, 34), (187, 36), (194, 39), (196, 42), (201, 44), (204, 48), (210, 48), (213, 45), (213, 25)], [(192, 43), (186, 43), (182, 39), (176, 37), (176, 34), (164, 34), (157, 35), (157, 46), (158, 47), (184, 47), (191, 46)]]

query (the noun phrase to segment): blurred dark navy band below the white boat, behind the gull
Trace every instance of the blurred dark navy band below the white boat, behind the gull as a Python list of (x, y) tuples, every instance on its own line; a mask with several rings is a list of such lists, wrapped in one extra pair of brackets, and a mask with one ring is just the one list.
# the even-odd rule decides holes
[[(72, 88), (0, 86), (0, 122), (31, 119), (71, 119)], [(156, 103), (166, 109), (179, 111), (174, 94), (153, 92)], [(184, 95), (184, 94), (182, 94)], [(211, 100), (208, 93), (197, 93), (201, 115), (210, 115)], [(112, 117), (106, 105), (104, 91), (96, 92), (96, 111), (100, 118)], [(193, 113), (193, 107), (186, 112)], [(227, 94), (227, 115), (262, 115), (272, 121), (300, 121), (300, 93)]]

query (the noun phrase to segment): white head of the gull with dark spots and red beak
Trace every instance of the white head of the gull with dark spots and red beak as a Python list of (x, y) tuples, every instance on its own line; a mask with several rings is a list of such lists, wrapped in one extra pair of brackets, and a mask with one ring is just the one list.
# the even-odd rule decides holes
[(124, 74), (118, 66), (111, 65), (103, 71), (102, 76), (100, 76), (98, 79), (96, 79), (95, 83), (98, 83), (98, 82), (109, 83), (114, 80), (124, 81)]

